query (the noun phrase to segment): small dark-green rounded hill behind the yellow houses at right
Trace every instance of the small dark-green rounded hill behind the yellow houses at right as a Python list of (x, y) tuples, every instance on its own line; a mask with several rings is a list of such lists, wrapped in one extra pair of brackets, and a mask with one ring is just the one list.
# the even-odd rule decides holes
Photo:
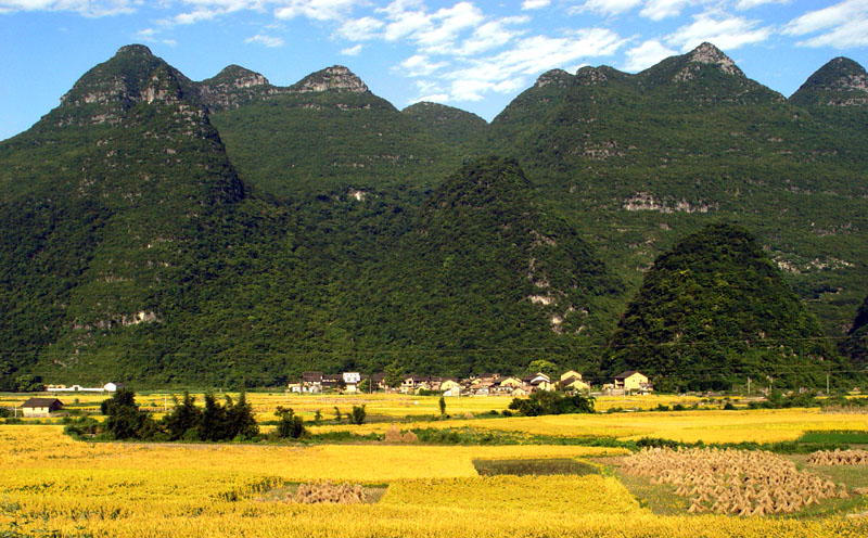
[(783, 272), (746, 230), (725, 223), (654, 260), (603, 359), (610, 374), (639, 370), (669, 390), (727, 388), (746, 377), (820, 386), (840, 368)]

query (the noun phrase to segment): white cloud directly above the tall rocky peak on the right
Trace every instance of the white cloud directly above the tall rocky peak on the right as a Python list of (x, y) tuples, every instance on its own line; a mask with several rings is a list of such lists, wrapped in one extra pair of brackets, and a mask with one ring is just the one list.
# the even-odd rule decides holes
[(667, 36), (666, 43), (679, 47), (682, 52), (692, 50), (705, 41), (725, 51), (733, 50), (745, 44), (763, 42), (771, 36), (770, 26), (757, 27), (760, 21), (702, 13), (693, 16), (692, 24), (681, 26)]

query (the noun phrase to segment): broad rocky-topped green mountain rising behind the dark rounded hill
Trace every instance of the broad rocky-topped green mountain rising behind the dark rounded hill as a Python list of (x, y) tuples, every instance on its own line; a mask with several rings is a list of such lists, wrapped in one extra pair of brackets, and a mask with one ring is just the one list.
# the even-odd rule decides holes
[(593, 238), (630, 286), (674, 230), (746, 227), (839, 337), (841, 307), (859, 304), (868, 276), (864, 110), (793, 104), (703, 44), (636, 75), (546, 73), (481, 145), (515, 156), (540, 200)]

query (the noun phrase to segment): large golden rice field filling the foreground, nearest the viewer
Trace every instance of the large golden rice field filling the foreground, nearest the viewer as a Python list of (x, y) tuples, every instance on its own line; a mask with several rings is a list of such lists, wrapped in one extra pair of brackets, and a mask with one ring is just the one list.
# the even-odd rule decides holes
[[(89, 444), (60, 426), (0, 425), (0, 535), (868, 536), (864, 517), (661, 516), (614, 476), (483, 477), (472, 465), (474, 458), (620, 453), (570, 446)], [(259, 500), (285, 482), (327, 479), (388, 488), (375, 504)]]

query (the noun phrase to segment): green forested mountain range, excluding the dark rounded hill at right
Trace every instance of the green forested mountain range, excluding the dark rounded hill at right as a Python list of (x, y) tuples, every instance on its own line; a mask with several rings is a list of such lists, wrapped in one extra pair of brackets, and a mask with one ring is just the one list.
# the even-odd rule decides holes
[[(636, 75), (546, 73), (487, 124), (398, 111), (342, 66), (192, 81), (124, 47), (0, 142), (0, 388), (537, 359), (602, 380), (639, 364), (612, 349), (649, 269), (718, 222), (782, 271), (768, 293), (802, 302), (793, 326), (843, 341), (868, 281), (867, 79), (835, 59), (788, 100), (705, 43)], [(715, 358), (641, 368), (730, 364), (719, 338)], [(788, 349), (771, 370), (820, 353)]]

